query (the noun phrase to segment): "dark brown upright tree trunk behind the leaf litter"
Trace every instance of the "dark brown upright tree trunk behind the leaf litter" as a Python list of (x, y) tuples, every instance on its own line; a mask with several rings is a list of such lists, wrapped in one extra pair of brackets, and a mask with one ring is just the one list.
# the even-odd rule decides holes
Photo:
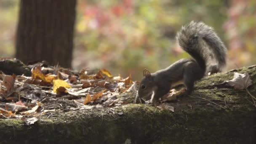
[(71, 67), (76, 0), (21, 0), (16, 58)]

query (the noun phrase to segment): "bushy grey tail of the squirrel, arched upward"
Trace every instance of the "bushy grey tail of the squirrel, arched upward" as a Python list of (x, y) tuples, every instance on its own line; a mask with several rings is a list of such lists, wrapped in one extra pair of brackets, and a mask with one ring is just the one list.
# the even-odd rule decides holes
[(203, 22), (191, 21), (183, 26), (176, 39), (181, 48), (189, 53), (204, 71), (211, 58), (216, 60), (217, 71), (221, 71), (226, 65), (227, 48), (213, 28)]

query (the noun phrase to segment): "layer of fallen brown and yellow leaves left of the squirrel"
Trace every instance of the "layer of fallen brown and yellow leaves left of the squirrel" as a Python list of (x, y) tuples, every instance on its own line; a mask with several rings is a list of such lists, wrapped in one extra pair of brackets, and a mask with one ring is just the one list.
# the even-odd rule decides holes
[[(22, 118), (30, 125), (40, 115), (56, 119), (54, 115), (60, 112), (120, 107), (131, 103), (129, 96), (136, 95), (139, 85), (131, 75), (113, 76), (107, 69), (77, 72), (39, 63), (28, 67), (32, 68), (30, 77), (0, 71), (0, 118)], [(173, 111), (168, 104), (159, 108)]]

